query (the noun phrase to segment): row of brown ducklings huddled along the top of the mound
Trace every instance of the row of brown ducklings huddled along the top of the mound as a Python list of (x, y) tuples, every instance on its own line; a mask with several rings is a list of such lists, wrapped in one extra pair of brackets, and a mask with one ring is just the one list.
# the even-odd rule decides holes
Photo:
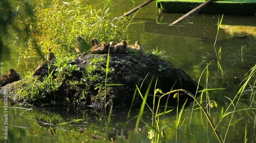
[(90, 40), (92, 47), (86, 49), (87, 42), (82, 39), (82, 37), (77, 37), (77, 42), (75, 49), (78, 53), (82, 51), (87, 51), (92, 54), (105, 54), (110, 51), (110, 53), (143, 53), (144, 49), (140, 45), (139, 41), (136, 41), (134, 45), (128, 45), (125, 40), (122, 40), (120, 43), (114, 45), (114, 42), (109, 43), (99, 43), (95, 38)]

